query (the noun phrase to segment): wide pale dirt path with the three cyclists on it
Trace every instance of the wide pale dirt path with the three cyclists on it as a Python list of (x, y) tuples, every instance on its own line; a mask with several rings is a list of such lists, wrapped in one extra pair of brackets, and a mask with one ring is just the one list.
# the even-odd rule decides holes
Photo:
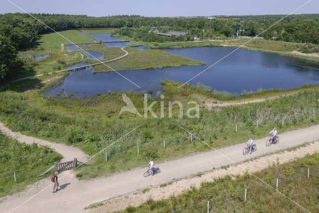
[[(219, 149), (219, 151), (234, 161), (241, 162), (276, 150), (318, 140), (319, 125), (279, 135), (280, 143), (269, 147), (265, 146), (265, 141), (268, 137), (256, 140), (257, 151), (251, 155), (242, 154), (245, 144), (233, 145)], [(197, 142), (200, 143), (199, 141)], [(72, 172), (64, 178), (59, 179), (60, 185), (64, 186), (64, 188), (58, 193), (52, 194), (50, 180), (42, 180), (29, 186), (24, 192), (2, 198), (2, 201), (0, 201), (0, 209), (3, 212), (10, 212), (45, 187), (50, 186), (18, 209), (15, 209), (14, 212), (86, 212), (84, 208), (91, 204), (134, 192), (138, 189), (164, 184), (172, 179), (219, 168), (230, 163), (232, 163), (230, 160), (221, 156), (216, 151), (209, 151), (156, 164), (157, 167), (160, 167), (161, 172), (149, 178), (143, 177), (146, 168), (137, 168), (121, 174), (114, 174), (106, 178), (98, 178), (91, 181), (78, 181), (75, 178), (75, 173)], [(231, 170), (227, 169), (227, 171)], [(62, 173), (60, 177), (66, 173), (67, 172)]]

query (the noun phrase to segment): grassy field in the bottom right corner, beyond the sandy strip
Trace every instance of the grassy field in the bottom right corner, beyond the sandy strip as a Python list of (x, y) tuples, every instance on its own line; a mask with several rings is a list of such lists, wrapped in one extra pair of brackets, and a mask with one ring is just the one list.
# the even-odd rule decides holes
[[(300, 204), (310, 212), (319, 209), (319, 154), (308, 155), (285, 164), (273, 164), (267, 169), (254, 173), (276, 189), (276, 178), (279, 178), (278, 191)], [(307, 179), (307, 168), (310, 177)], [(245, 188), (247, 200), (244, 201)], [(304, 210), (280, 195), (260, 180), (248, 175), (214, 179), (203, 182), (199, 188), (191, 187), (181, 195), (169, 199), (148, 200), (141, 206), (128, 207), (121, 213), (150, 213), (171, 210), (183, 213), (202, 213), (207, 211), (207, 201), (211, 212), (303, 212)]]

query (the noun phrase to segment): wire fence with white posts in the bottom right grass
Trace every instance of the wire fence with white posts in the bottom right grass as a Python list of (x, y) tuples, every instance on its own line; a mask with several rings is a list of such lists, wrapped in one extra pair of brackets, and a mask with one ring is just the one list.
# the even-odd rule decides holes
[[(270, 184), (275, 191), (278, 191), (279, 187), (281, 187), (283, 184), (289, 183), (289, 182), (293, 182), (296, 181), (297, 179), (309, 179), (311, 177), (312, 174), (316, 173), (319, 171), (319, 165), (315, 165), (313, 167), (309, 167), (309, 168), (303, 168), (299, 171), (296, 171), (294, 173), (289, 174), (287, 177), (287, 175), (285, 176), (280, 176), (278, 178), (273, 178), (271, 180), (268, 180), (268, 184)], [(253, 186), (249, 186), (246, 188), (241, 188), (239, 190), (218, 196), (218, 197), (214, 197), (212, 199), (206, 200), (206, 201), (202, 201), (198, 204), (194, 204), (182, 209), (177, 209), (177, 210), (171, 210), (172, 213), (178, 213), (178, 212), (202, 212), (203, 209), (207, 210), (207, 213), (209, 212), (215, 212), (215, 211), (221, 211), (220, 208), (217, 208), (219, 204), (221, 203), (226, 203), (226, 202), (240, 202), (240, 203), (245, 203), (249, 198), (251, 198), (254, 193), (256, 193), (257, 191), (260, 190), (270, 190), (271, 188), (269, 186), (267, 186), (264, 183), (260, 183), (257, 185), (253, 185)], [(274, 191), (274, 189), (271, 189)], [(234, 196), (235, 194), (237, 194), (237, 196)], [(238, 194), (240, 196), (242, 196), (240, 199), (238, 199)], [(229, 204), (228, 204), (229, 206)]]

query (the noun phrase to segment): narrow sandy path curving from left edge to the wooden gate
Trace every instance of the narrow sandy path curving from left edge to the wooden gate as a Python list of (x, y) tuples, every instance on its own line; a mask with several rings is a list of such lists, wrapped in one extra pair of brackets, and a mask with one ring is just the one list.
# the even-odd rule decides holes
[(0, 122), (0, 130), (3, 134), (14, 138), (21, 143), (25, 142), (26, 144), (32, 144), (33, 142), (35, 142), (42, 146), (50, 146), (52, 149), (54, 149), (56, 152), (60, 153), (63, 156), (62, 161), (71, 161), (74, 158), (77, 158), (79, 161), (84, 162), (87, 159), (87, 154), (85, 154), (81, 149), (77, 147), (41, 140), (35, 137), (23, 135), (20, 132), (13, 132), (11, 131), (11, 129), (7, 128), (2, 122)]

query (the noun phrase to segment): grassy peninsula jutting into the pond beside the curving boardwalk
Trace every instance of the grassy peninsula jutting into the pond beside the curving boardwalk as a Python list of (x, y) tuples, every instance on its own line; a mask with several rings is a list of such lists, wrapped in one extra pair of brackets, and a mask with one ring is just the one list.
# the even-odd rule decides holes
[[(110, 60), (124, 55), (119, 47), (105, 47), (103, 44), (83, 46), (85, 50), (96, 51), (105, 54), (104, 60)], [(177, 55), (171, 55), (161, 50), (137, 50), (131, 47), (125, 48), (129, 55), (107, 65), (114, 70), (156, 69), (164, 67), (180, 67), (183, 65), (204, 65), (205, 63), (193, 61)], [(119, 52), (121, 51), (121, 52)], [(95, 72), (112, 71), (105, 65), (97, 65)]]

